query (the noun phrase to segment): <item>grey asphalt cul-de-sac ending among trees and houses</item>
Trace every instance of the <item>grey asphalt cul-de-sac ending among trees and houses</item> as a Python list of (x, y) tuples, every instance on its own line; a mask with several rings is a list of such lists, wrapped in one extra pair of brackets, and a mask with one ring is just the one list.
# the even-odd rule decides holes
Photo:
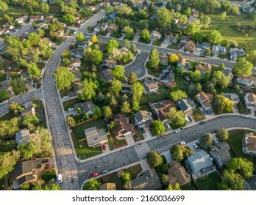
[(141, 54), (136, 57), (135, 61), (125, 67), (125, 75), (128, 76), (132, 72), (135, 72), (138, 78), (143, 78), (146, 75), (144, 64), (148, 56), (148, 52), (141, 51)]

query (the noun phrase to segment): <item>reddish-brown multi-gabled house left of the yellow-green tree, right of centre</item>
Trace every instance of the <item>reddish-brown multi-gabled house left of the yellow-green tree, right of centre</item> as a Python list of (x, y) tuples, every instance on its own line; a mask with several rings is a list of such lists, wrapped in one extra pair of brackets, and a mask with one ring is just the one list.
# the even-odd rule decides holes
[(149, 107), (152, 109), (152, 112), (157, 114), (161, 122), (168, 122), (166, 113), (168, 113), (170, 108), (175, 108), (175, 104), (171, 100), (163, 100), (158, 103), (149, 103)]

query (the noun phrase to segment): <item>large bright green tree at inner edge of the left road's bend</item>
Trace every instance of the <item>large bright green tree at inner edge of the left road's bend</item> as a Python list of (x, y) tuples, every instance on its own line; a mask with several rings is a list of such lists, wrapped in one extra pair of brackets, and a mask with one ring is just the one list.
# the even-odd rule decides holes
[(67, 67), (61, 66), (58, 67), (56, 73), (54, 74), (54, 78), (57, 89), (61, 91), (63, 89), (70, 89), (71, 83), (74, 81), (76, 76), (70, 70), (68, 70)]

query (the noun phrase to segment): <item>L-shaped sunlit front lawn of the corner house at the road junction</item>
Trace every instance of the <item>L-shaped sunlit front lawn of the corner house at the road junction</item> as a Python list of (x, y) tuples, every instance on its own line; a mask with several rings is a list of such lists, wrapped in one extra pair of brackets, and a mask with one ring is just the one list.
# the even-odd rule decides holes
[(80, 160), (85, 160), (89, 157), (93, 157), (99, 154), (102, 154), (102, 147), (89, 147), (87, 141), (78, 141), (77, 135), (74, 133), (74, 130), (71, 133), (71, 137), (74, 143), (74, 149), (77, 154), (77, 157)]

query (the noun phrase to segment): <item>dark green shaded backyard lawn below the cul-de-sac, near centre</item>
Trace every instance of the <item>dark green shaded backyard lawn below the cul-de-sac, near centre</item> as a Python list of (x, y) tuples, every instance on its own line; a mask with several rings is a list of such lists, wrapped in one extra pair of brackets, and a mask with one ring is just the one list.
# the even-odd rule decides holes
[(154, 94), (143, 94), (141, 96), (141, 104), (152, 103), (168, 98), (170, 91), (165, 86), (158, 86), (158, 92)]

